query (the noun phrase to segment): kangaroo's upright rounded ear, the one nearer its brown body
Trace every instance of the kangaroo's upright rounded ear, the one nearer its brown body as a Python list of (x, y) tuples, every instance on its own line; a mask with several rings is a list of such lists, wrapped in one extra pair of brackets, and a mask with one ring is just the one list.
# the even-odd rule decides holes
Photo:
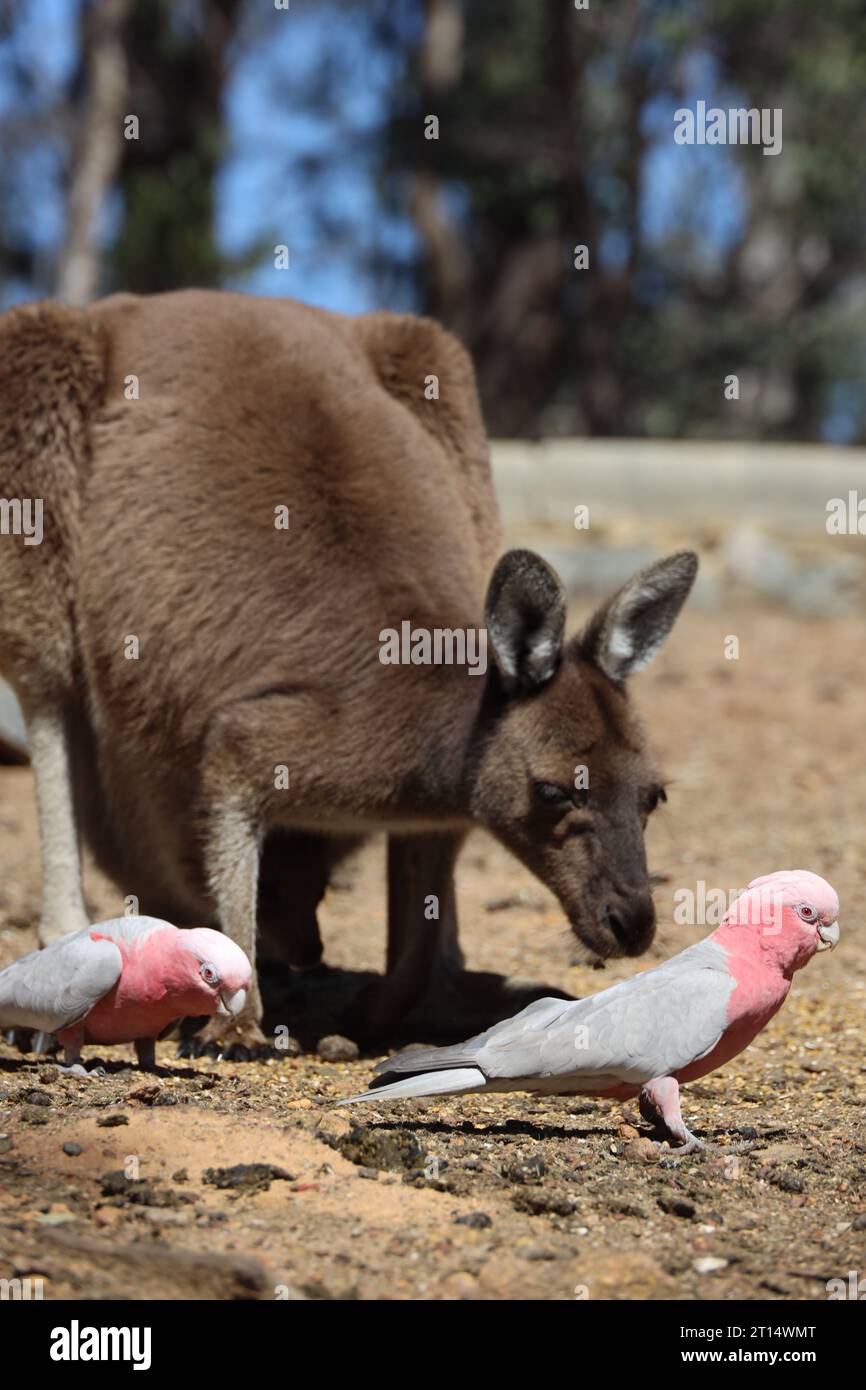
[(507, 550), (487, 591), (487, 631), (506, 691), (549, 681), (562, 660), (566, 596), (539, 555)]

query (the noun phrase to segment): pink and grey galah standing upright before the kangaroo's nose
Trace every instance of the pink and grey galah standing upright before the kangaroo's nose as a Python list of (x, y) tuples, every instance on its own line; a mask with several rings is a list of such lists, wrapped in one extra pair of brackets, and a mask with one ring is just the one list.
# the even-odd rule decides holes
[(671, 960), (587, 999), (538, 999), (456, 1047), (379, 1062), (356, 1101), (534, 1091), (641, 1097), (680, 1154), (706, 1148), (680, 1112), (680, 1083), (723, 1066), (785, 1001), (795, 970), (840, 935), (838, 898), (805, 869), (755, 878), (721, 924)]

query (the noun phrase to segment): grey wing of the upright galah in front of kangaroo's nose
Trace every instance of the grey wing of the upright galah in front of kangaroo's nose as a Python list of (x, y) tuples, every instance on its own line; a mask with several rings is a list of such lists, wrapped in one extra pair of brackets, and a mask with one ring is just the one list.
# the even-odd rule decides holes
[(716, 1045), (733, 988), (721, 947), (701, 941), (587, 999), (539, 999), (459, 1047), (400, 1052), (377, 1068), (377, 1084), (413, 1072), (477, 1066), (493, 1084), (569, 1077), (575, 1090), (641, 1086)]

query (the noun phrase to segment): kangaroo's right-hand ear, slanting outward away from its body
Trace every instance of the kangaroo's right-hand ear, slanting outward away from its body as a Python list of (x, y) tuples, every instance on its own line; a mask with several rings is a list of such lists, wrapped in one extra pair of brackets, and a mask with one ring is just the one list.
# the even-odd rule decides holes
[(680, 550), (634, 574), (577, 638), (580, 653), (612, 681), (644, 669), (662, 646), (698, 573), (698, 556)]

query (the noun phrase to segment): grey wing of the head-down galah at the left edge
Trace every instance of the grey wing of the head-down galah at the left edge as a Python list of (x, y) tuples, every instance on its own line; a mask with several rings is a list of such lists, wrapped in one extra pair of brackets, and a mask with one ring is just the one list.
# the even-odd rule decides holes
[(74, 931), (0, 970), (0, 1027), (60, 1033), (114, 988), (121, 952), (114, 941), (93, 941), (93, 930)]

